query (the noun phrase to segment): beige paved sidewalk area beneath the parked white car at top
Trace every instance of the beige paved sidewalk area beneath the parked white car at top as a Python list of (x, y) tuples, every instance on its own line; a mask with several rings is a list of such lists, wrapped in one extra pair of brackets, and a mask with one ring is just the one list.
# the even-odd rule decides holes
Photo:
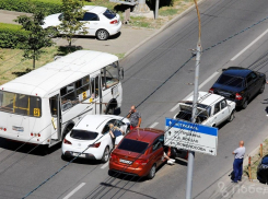
[[(23, 14), (30, 15), (22, 12), (0, 10), (0, 22), (16, 24), (13, 20)], [(148, 39), (156, 32), (158, 30), (145, 30), (123, 25), (121, 32), (118, 35), (109, 37), (107, 40), (97, 40), (95, 37), (81, 36), (75, 37), (72, 45), (81, 46), (83, 49), (105, 51), (115, 55), (126, 54), (138, 47), (137, 45)], [(57, 46), (68, 45), (67, 40), (63, 38), (55, 38), (54, 40)]]

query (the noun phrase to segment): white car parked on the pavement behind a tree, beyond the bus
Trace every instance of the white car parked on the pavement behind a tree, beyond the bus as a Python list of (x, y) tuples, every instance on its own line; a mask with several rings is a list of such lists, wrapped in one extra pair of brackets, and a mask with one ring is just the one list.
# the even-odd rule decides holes
[[(105, 7), (85, 5), (81, 22), (84, 22), (88, 34), (96, 36), (100, 40), (106, 40), (110, 35), (117, 34), (121, 28), (119, 14)], [(58, 26), (63, 17), (62, 13), (51, 14), (45, 17), (43, 28)], [(80, 32), (77, 35), (82, 35)]]

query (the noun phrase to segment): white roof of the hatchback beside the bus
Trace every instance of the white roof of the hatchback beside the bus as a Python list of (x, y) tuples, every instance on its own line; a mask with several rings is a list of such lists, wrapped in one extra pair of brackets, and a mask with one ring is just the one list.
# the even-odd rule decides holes
[(110, 119), (121, 119), (114, 115), (85, 115), (73, 129), (97, 131), (98, 127)]

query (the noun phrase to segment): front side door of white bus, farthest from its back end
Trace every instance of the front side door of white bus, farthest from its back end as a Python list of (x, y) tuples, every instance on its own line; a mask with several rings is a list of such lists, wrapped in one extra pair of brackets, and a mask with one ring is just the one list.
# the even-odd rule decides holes
[(103, 96), (100, 85), (102, 85), (100, 74), (94, 78), (91, 77), (91, 101), (93, 103), (94, 114), (103, 114)]

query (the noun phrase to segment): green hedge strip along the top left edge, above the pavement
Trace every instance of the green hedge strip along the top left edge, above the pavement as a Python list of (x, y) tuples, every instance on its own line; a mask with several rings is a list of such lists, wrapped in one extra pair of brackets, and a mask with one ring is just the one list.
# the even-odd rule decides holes
[(31, 4), (45, 9), (47, 15), (61, 12), (61, 0), (1, 0), (0, 9), (33, 13)]

